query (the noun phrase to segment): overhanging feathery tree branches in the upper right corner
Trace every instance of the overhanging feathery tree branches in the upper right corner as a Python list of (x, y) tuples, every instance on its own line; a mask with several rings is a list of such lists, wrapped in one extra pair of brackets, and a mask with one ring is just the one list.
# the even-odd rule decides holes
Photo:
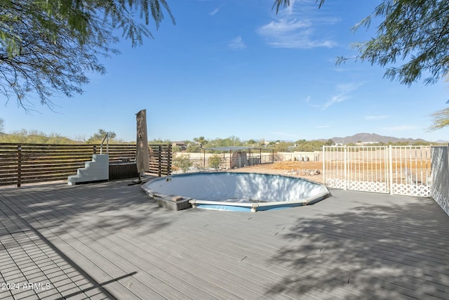
[(404, 60), (400, 67), (388, 67), (384, 76), (406, 85), (422, 74), (429, 74), (425, 84), (434, 84), (448, 73), (449, 1), (384, 0), (353, 29), (368, 27), (372, 18), (384, 21), (375, 39), (354, 45), (362, 61), (384, 67)]

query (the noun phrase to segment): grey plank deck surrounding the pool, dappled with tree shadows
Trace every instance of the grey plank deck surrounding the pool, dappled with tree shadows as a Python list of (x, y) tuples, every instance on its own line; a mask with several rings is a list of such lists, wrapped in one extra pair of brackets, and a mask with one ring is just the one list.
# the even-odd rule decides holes
[(0, 299), (448, 299), (433, 200), (168, 211), (129, 182), (0, 190)]

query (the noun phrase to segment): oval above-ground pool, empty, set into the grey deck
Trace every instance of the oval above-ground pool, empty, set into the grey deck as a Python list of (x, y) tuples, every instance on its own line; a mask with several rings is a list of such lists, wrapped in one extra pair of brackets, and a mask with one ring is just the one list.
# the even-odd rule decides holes
[(194, 208), (257, 211), (297, 207), (330, 195), (325, 185), (290, 176), (200, 172), (154, 178), (142, 185), (150, 196), (183, 197)]

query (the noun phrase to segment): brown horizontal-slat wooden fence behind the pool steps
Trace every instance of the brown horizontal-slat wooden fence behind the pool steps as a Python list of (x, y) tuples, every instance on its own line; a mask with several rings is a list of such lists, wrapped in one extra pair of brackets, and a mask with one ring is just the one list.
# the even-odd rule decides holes
[[(0, 143), (0, 185), (17, 185), (66, 180), (100, 153), (98, 144), (16, 144)], [(132, 161), (133, 144), (110, 144), (109, 163)], [(171, 145), (149, 145), (149, 173), (171, 173)]]

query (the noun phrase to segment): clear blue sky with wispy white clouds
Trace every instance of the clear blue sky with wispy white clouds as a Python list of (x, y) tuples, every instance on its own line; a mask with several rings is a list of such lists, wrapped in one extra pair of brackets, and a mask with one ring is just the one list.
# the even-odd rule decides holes
[(5, 131), (59, 133), (69, 138), (114, 131), (135, 140), (135, 114), (147, 110), (149, 140), (237, 136), (242, 140), (312, 140), (377, 133), (449, 140), (449, 129), (428, 132), (432, 112), (447, 107), (449, 83), (403, 86), (377, 65), (354, 56), (351, 43), (374, 36), (351, 27), (379, 1), (291, 1), (276, 15), (273, 0), (168, 0), (155, 39), (103, 59), (107, 74), (92, 74), (85, 93), (52, 98), (27, 114), (1, 99)]

